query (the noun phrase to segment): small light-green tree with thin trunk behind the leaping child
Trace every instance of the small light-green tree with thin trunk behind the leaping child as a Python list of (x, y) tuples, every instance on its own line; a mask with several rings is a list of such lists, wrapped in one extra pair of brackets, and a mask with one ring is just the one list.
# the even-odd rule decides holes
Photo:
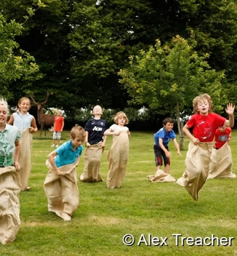
[(142, 50), (139, 55), (130, 56), (129, 67), (118, 73), (132, 97), (130, 102), (146, 104), (159, 113), (176, 117), (181, 149), (184, 137), (181, 120), (191, 114), (187, 110), (192, 99), (207, 92), (218, 100), (223, 89), (224, 73), (210, 68), (208, 56), (198, 56), (187, 40), (176, 36), (170, 46), (162, 46), (156, 40), (155, 47), (151, 46), (147, 52)]

